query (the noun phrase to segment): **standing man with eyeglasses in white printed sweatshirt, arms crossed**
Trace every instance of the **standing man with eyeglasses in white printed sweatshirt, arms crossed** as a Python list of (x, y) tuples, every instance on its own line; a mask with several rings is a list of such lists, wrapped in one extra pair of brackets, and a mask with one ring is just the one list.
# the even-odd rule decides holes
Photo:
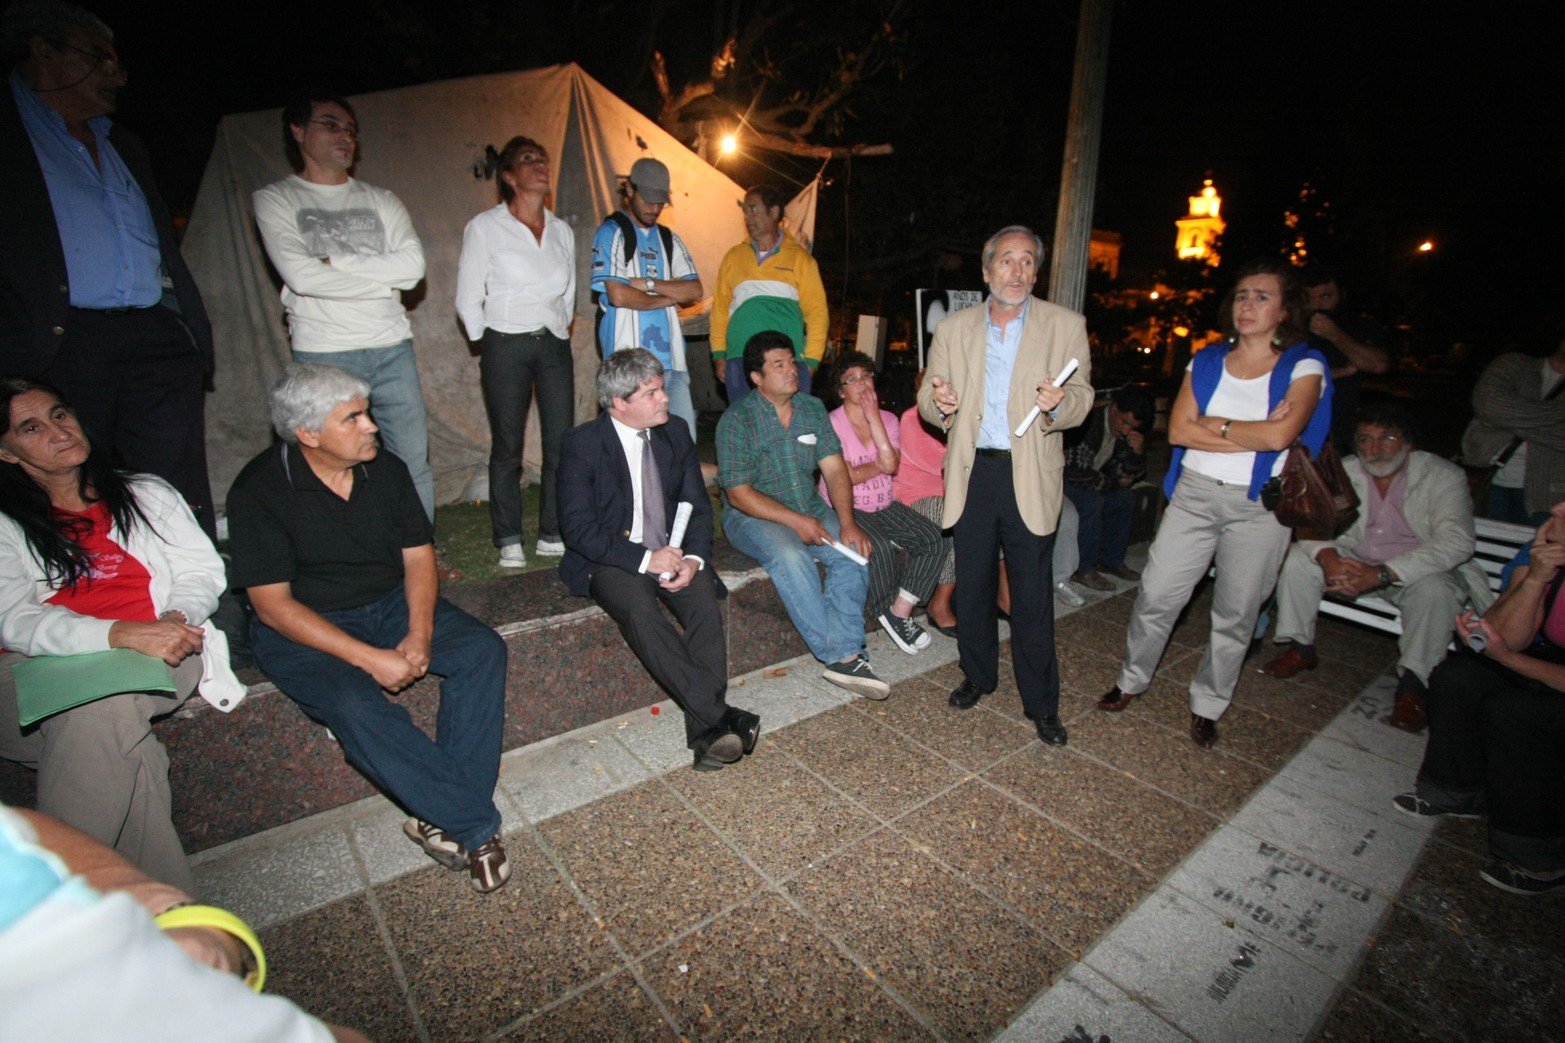
[(358, 121), (346, 99), (300, 94), (282, 119), (297, 172), (257, 191), (254, 205), (266, 255), (283, 279), (293, 357), (369, 382), (380, 438), (407, 464), (434, 523), (424, 388), (402, 307), (402, 291), (424, 279), (424, 246), (401, 199), (352, 177)]

